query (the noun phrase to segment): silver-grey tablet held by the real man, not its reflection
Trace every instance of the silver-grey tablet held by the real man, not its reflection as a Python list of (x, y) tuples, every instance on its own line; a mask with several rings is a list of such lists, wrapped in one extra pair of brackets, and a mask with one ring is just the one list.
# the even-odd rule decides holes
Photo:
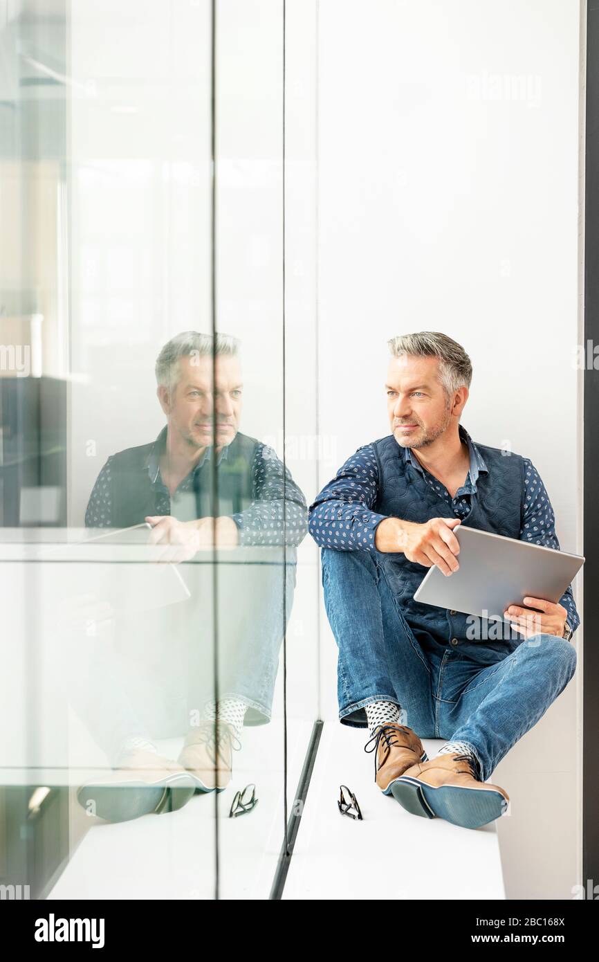
[(460, 568), (449, 575), (435, 565), (414, 593), (414, 601), (479, 618), (504, 618), (504, 611), (525, 597), (558, 602), (585, 558), (540, 544), (505, 538), (459, 524)]

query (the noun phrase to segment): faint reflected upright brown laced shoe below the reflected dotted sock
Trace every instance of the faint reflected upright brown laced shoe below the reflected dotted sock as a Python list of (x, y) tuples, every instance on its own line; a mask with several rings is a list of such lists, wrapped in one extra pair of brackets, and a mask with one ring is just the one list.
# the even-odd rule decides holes
[(178, 760), (196, 780), (196, 792), (225, 790), (231, 781), (234, 747), (238, 750), (241, 745), (235, 728), (228, 722), (218, 722), (218, 739), (212, 721), (202, 722), (187, 734)]

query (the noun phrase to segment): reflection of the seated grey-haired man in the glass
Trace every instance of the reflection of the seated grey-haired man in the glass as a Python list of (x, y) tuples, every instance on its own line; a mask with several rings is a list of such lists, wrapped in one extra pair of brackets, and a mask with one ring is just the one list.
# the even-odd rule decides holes
[[(187, 772), (198, 791), (222, 790), (243, 726), (271, 717), (307, 505), (275, 451), (238, 429), (237, 339), (177, 335), (156, 376), (166, 424), (153, 443), (109, 457), (86, 525), (151, 524), (160, 560), (189, 562), (178, 570), (191, 598), (119, 619), (118, 658), (102, 651), (94, 670), (111, 697), (89, 699), (87, 719), (115, 767)], [(155, 740), (186, 730), (177, 761), (163, 758)]]

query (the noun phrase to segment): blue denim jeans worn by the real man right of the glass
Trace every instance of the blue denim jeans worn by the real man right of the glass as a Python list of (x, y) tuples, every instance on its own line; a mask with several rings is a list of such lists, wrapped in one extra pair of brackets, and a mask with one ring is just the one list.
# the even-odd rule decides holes
[(322, 548), (321, 562), (343, 724), (364, 726), (364, 705), (394, 701), (401, 722), (420, 738), (471, 745), (487, 780), (574, 674), (575, 648), (548, 634), (523, 639), (503, 658), (483, 643), (461, 640), (442, 656), (425, 654), (376, 555)]

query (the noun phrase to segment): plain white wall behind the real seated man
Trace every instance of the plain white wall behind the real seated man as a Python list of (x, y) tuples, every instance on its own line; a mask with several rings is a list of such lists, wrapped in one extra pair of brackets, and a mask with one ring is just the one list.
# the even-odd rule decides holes
[[(337, 439), (320, 484), (389, 433), (387, 340), (443, 331), (473, 362), (462, 423), (533, 460), (579, 551), (578, 4), (321, 0), (318, 70), (319, 430)], [(575, 638), (576, 678), (493, 776), (512, 899), (579, 881)]]

